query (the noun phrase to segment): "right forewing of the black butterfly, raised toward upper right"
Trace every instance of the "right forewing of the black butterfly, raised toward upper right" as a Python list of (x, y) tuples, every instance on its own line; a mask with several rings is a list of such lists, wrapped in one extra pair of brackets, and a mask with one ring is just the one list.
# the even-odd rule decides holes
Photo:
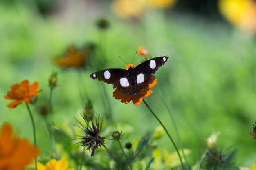
[(169, 57), (155, 57), (145, 62), (142, 62), (134, 68), (135, 72), (155, 74), (160, 66), (167, 62)]

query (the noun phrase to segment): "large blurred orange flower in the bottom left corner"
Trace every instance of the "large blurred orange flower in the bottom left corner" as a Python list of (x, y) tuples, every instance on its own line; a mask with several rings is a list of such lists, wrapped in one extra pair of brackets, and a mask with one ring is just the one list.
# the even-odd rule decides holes
[(5, 123), (0, 132), (0, 170), (22, 170), (39, 153), (39, 148), (27, 139), (13, 135), (10, 124)]

